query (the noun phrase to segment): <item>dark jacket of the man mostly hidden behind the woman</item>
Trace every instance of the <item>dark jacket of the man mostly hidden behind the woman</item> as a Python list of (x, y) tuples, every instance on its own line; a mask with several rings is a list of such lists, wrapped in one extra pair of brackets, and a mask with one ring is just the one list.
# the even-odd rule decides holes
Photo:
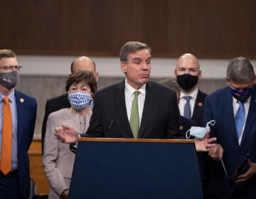
[(60, 109), (69, 108), (70, 102), (68, 101), (68, 94), (60, 95), (58, 97), (54, 97), (52, 99), (48, 99), (46, 101), (46, 109), (45, 109), (45, 115), (43, 117), (43, 124), (42, 124), (42, 154), (43, 154), (43, 144), (44, 144), (44, 138), (46, 136), (46, 123), (47, 119), (50, 113), (56, 112)]

